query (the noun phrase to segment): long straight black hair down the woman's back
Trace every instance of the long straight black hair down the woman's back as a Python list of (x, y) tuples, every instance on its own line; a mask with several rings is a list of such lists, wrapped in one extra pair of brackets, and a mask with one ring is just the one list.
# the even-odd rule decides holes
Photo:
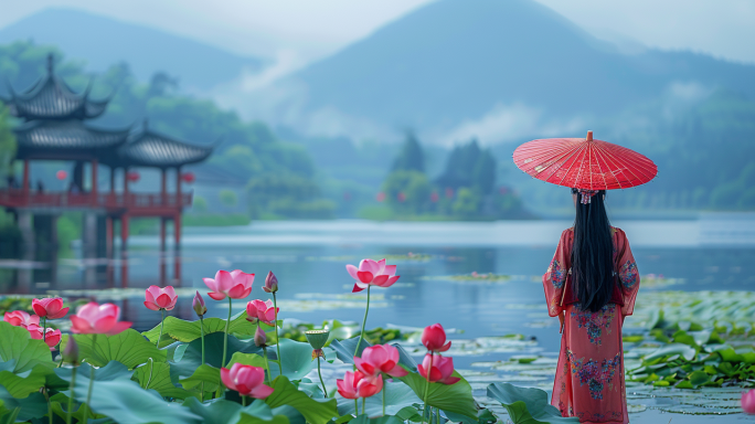
[(574, 247), (572, 248), (572, 282), (576, 287), (582, 310), (597, 312), (610, 300), (614, 292), (614, 240), (600, 190), (582, 203), (582, 193), (576, 193), (576, 218), (574, 220)]

